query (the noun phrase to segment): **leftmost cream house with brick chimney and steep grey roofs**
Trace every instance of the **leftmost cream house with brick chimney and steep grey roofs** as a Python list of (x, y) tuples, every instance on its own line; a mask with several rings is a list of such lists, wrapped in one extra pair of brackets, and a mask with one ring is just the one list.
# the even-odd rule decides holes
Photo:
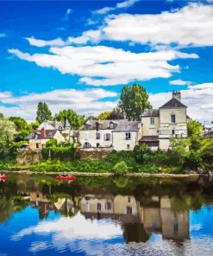
[(59, 143), (65, 142), (66, 138), (62, 133), (66, 131), (62, 123), (57, 121), (45, 121), (37, 130), (28, 135), (28, 146), (31, 150), (41, 150), (46, 146), (47, 141), (55, 138)]

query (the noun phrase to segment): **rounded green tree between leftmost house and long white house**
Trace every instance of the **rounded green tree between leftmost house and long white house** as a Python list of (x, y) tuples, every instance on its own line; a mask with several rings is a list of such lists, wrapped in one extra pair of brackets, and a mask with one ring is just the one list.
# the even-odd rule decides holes
[(81, 125), (85, 123), (85, 116), (78, 115), (72, 109), (62, 110), (59, 114), (55, 115), (55, 119), (62, 122), (63, 125), (66, 124), (66, 120), (71, 125), (72, 129), (77, 130)]

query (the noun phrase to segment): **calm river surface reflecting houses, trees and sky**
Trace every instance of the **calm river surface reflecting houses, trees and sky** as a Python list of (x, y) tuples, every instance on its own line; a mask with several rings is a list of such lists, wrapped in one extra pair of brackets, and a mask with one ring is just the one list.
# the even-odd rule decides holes
[(0, 256), (10, 255), (213, 255), (213, 182), (9, 175)]

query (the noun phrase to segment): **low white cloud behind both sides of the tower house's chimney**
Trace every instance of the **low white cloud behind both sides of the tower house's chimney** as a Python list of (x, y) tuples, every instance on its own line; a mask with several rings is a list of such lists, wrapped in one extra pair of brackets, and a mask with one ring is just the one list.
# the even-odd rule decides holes
[[(189, 86), (181, 91), (182, 102), (188, 106), (188, 115), (204, 124), (212, 121), (213, 115), (213, 82)], [(155, 93), (150, 95), (153, 108), (162, 106), (165, 99), (170, 99), (172, 93)]]

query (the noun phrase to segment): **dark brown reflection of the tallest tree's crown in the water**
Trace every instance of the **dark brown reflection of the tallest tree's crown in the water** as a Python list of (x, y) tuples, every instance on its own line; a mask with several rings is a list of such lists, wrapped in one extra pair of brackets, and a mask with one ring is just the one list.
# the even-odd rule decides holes
[(123, 237), (126, 243), (129, 242), (146, 242), (149, 240), (149, 235), (141, 223), (128, 223), (122, 225)]

